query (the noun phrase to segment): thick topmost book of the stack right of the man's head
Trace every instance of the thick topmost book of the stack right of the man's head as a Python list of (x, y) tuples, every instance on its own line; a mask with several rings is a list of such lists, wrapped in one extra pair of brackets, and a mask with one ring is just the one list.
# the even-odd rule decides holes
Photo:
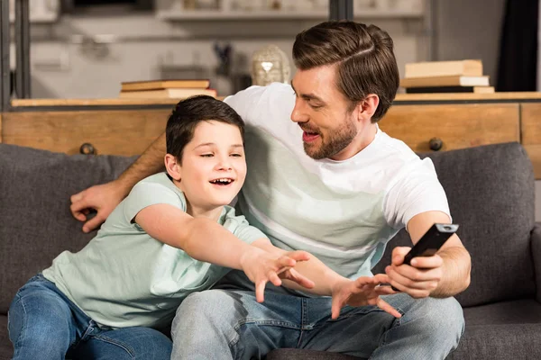
[(406, 64), (404, 77), (482, 76), (481, 60), (426, 61)]

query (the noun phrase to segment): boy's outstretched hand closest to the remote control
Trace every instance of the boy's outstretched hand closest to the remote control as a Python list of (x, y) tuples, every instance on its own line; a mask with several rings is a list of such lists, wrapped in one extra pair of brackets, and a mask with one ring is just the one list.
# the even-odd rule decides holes
[(389, 285), (390, 278), (385, 274), (374, 276), (361, 276), (356, 280), (345, 279), (333, 285), (333, 306), (332, 318), (336, 319), (340, 315), (340, 310), (344, 306), (366, 306), (376, 305), (382, 311), (387, 311), (395, 318), (402, 315), (394, 309), (388, 302), (381, 299), (381, 295), (390, 295), (394, 292)]

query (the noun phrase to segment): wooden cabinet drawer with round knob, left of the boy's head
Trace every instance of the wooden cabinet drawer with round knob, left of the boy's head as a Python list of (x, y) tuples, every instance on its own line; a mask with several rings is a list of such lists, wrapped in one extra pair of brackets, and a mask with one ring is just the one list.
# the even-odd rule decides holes
[(139, 155), (164, 130), (170, 109), (5, 112), (2, 141), (78, 154), (84, 143), (97, 154)]

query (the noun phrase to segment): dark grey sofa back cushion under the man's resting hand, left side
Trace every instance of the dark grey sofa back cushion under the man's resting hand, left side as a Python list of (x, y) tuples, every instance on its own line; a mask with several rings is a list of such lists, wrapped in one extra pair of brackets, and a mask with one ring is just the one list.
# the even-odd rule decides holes
[(78, 251), (96, 235), (81, 231), (69, 196), (114, 179), (132, 162), (0, 144), (0, 313), (60, 252)]

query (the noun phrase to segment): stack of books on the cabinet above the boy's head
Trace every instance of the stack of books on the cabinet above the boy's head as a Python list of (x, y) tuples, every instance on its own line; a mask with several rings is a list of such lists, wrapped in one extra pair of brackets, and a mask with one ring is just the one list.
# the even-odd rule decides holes
[(199, 94), (216, 97), (216, 90), (209, 86), (207, 79), (132, 81), (122, 83), (119, 97), (186, 99)]

